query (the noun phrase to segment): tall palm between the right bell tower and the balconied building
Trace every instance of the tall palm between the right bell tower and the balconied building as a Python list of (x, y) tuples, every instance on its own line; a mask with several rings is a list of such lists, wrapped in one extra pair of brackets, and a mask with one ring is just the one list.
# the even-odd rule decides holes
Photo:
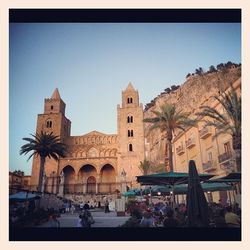
[[(166, 133), (166, 160), (167, 161), (167, 149), (169, 157), (169, 169), (173, 171), (173, 156), (172, 156), (172, 140), (173, 133), (176, 129), (185, 131), (187, 126), (195, 126), (196, 121), (188, 118), (189, 113), (177, 111), (174, 104), (165, 104), (160, 107), (161, 111), (152, 111), (155, 114), (153, 118), (146, 118), (143, 121), (152, 123), (150, 130), (160, 129), (161, 132)], [(165, 162), (167, 164), (167, 162)]]

